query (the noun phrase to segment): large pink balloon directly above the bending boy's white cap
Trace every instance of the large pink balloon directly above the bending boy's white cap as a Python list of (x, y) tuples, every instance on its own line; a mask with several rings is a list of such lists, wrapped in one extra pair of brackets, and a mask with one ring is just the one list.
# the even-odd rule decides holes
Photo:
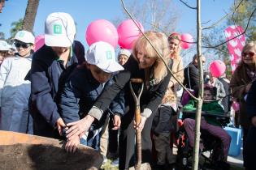
[(104, 41), (115, 48), (118, 42), (118, 34), (115, 26), (111, 22), (105, 19), (98, 19), (90, 23), (87, 27), (85, 39), (88, 45), (92, 45), (98, 41)]

